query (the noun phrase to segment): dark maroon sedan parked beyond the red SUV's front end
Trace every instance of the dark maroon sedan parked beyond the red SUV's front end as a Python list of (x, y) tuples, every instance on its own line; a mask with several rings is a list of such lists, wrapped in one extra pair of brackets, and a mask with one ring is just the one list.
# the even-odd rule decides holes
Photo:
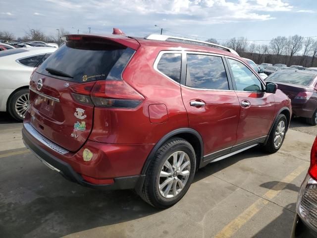
[(265, 81), (274, 82), (291, 100), (293, 115), (317, 124), (317, 72), (308, 70), (280, 70)]

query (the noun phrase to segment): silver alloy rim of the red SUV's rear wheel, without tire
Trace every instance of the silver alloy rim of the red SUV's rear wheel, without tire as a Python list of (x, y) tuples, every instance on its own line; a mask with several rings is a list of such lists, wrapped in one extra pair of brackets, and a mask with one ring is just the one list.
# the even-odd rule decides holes
[(190, 175), (190, 159), (183, 151), (174, 152), (164, 162), (159, 173), (159, 192), (165, 198), (176, 196)]

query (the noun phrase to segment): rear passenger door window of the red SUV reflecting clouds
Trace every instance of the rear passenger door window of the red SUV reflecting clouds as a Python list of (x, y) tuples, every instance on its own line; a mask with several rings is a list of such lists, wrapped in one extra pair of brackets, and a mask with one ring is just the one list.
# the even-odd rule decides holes
[(227, 74), (221, 57), (187, 54), (186, 86), (229, 90)]

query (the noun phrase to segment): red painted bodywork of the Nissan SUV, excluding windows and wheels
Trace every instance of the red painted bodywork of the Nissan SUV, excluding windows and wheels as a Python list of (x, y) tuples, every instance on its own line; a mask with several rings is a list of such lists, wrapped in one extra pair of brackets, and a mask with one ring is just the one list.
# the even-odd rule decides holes
[[(34, 144), (68, 163), (77, 173), (95, 179), (111, 179), (140, 175), (151, 150), (169, 132), (193, 128), (203, 138), (204, 155), (244, 141), (267, 135), (277, 112), (290, 106), (285, 94), (256, 94), (235, 91), (195, 90), (181, 86), (154, 69), (160, 51), (187, 50), (239, 57), (215, 48), (125, 36), (98, 36), (136, 50), (122, 73), (122, 79), (143, 95), (144, 100), (134, 109), (96, 107), (77, 103), (67, 81), (35, 73), (31, 88), (42, 78), (41, 93), (59, 99), (53, 103), (31, 91), (31, 106), (24, 122), (31, 124), (49, 140), (69, 150), (61, 155), (41, 144)], [(76, 83), (69, 82), (69, 86)], [(190, 102), (205, 102), (205, 107), (190, 106)], [(251, 107), (242, 109), (241, 100)], [(48, 103), (49, 102), (49, 103)], [(85, 118), (74, 115), (85, 110)], [(71, 137), (74, 123), (86, 122), (86, 129), (77, 138)], [(83, 160), (89, 149), (91, 161)]]

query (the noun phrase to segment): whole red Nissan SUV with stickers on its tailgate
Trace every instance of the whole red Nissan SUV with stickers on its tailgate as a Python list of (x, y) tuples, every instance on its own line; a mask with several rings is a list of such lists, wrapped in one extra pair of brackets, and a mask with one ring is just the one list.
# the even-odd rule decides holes
[(159, 208), (195, 172), (256, 145), (276, 152), (288, 97), (231, 49), (150, 35), (68, 35), (31, 76), (25, 145), (84, 186), (131, 189)]

